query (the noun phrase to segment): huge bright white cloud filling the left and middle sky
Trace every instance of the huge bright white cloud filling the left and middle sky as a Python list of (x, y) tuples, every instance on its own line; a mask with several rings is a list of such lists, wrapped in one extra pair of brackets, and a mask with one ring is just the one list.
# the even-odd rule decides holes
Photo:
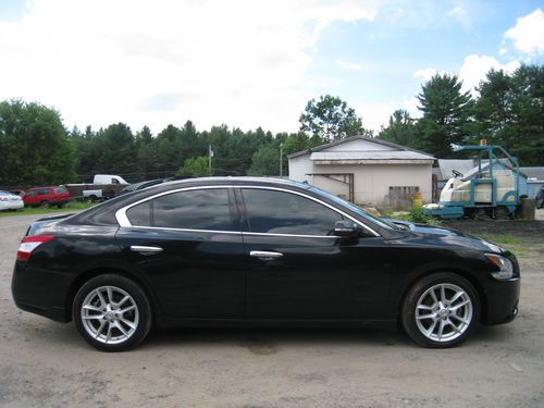
[(295, 131), (323, 29), (375, 14), (351, 0), (36, 0), (0, 22), (0, 99), (54, 106), (69, 126)]

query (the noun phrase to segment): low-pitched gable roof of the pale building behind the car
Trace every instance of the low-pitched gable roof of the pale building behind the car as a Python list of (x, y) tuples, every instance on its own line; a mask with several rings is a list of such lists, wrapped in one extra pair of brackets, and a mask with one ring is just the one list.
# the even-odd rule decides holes
[[(346, 150), (345, 151), (338, 151), (338, 150), (335, 150), (334, 152), (333, 151), (330, 151), (330, 152), (324, 152), (324, 150), (327, 150), (330, 148), (333, 148), (333, 147), (336, 147), (336, 146), (341, 146), (341, 145), (344, 145), (344, 144), (348, 144), (350, 141), (355, 141), (355, 140), (366, 140), (366, 141), (370, 141), (370, 143), (373, 143), (373, 144), (376, 144), (379, 145), (380, 147), (383, 147), (383, 149), (375, 149), (375, 150), (354, 150), (354, 149), (349, 149), (347, 146), (346, 146)], [(329, 154), (333, 154), (333, 156), (330, 156), (331, 158), (320, 158), (320, 159), (317, 159), (318, 156), (316, 156), (316, 159), (313, 158), (314, 156), (313, 154), (317, 154), (318, 152), (322, 152), (324, 153), (323, 157), (326, 157)], [(416, 149), (410, 149), (409, 147), (405, 147), (405, 146), (400, 146), (400, 145), (396, 145), (396, 144), (393, 144), (391, 141), (385, 141), (385, 140), (381, 140), (381, 139), (376, 139), (376, 138), (373, 138), (373, 137), (366, 137), (366, 136), (351, 136), (351, 137), (346, 137), (345, 139), (342, 139), (342, 140), (337, 140), (337, 141), (333, 141), (333, 143), (330, 143), (330, 144), (325, 144), (325, 145), (320, 145), (320, 146), (317, 146), (317, 147), (312, 147), (311, 149), (307, 149), (307, 150), (302, 150), (302, 151), (297, 151), (295, 153), (292, 153), (292, 154), (288, 154), (287, 158), (288, 159), (293, 159), (293, 158), (296, 158), (296, 157), (299, 157), (299, 156), (304, 156), (304, 154), (308, 154), (310, 153), (311, 154), (311, 160), (387, 160), (387, 159), (401, 159), (401, 160), (434, 160), (434, 157), (432, 157), (431, 154), (428, 154), (423, 151), (419, 151), (419, 150), (416, 150)], [(353, 154), (353, 157), (342, 157), (341, 156), (334, 156), (334, 154), (339, 154), (339, 153), (347, 153), (347, 154)], [(384, 156), (395, 156), (393, 153), (401, 153), (399, 156), (401, 157), (398, 157), (398, 158), (387, 158), (387, 157), (380, 157), (381, 154), (384, 154)], [(355, 157), (355, 156), (358, 156), (358, 157)], [(359, 157), (360, 156), (360, 157)]]

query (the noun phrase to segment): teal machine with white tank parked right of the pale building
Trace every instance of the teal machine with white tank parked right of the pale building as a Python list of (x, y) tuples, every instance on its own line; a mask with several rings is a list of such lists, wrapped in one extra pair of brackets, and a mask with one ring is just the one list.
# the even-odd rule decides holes
[[(469, 174), (454, 172), (442, 189), (438, 203), (423, 206), (426, 215), (442, 219), (462, 217), (514, 217), (519, 208), (519, 164), (500, 146), (460, 146), (473, 150), (478, 166)], [(499, 156), (500, 159), (499, 159)]]

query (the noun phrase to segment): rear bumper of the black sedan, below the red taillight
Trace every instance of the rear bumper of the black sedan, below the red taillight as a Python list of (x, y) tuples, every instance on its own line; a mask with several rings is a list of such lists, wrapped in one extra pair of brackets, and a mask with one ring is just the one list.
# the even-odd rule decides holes
[(33, 268), (28, 262), (16, 261), (11, 281), (15, 305), (25, 311), (44, 316), (58, 322), (69, 322), (66, 299), (69, 276)]

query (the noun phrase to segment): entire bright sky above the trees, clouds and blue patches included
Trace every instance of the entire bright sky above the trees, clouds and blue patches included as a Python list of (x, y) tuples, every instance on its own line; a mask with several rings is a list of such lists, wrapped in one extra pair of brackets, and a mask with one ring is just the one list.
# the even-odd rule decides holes
[(475, 87), (544, 61), (544, 0), (0, 0), (0, 100), (57, 109), (71, 129), (296, 132), (337, 96), (378, 132), (418, 118), (435, 73)]

